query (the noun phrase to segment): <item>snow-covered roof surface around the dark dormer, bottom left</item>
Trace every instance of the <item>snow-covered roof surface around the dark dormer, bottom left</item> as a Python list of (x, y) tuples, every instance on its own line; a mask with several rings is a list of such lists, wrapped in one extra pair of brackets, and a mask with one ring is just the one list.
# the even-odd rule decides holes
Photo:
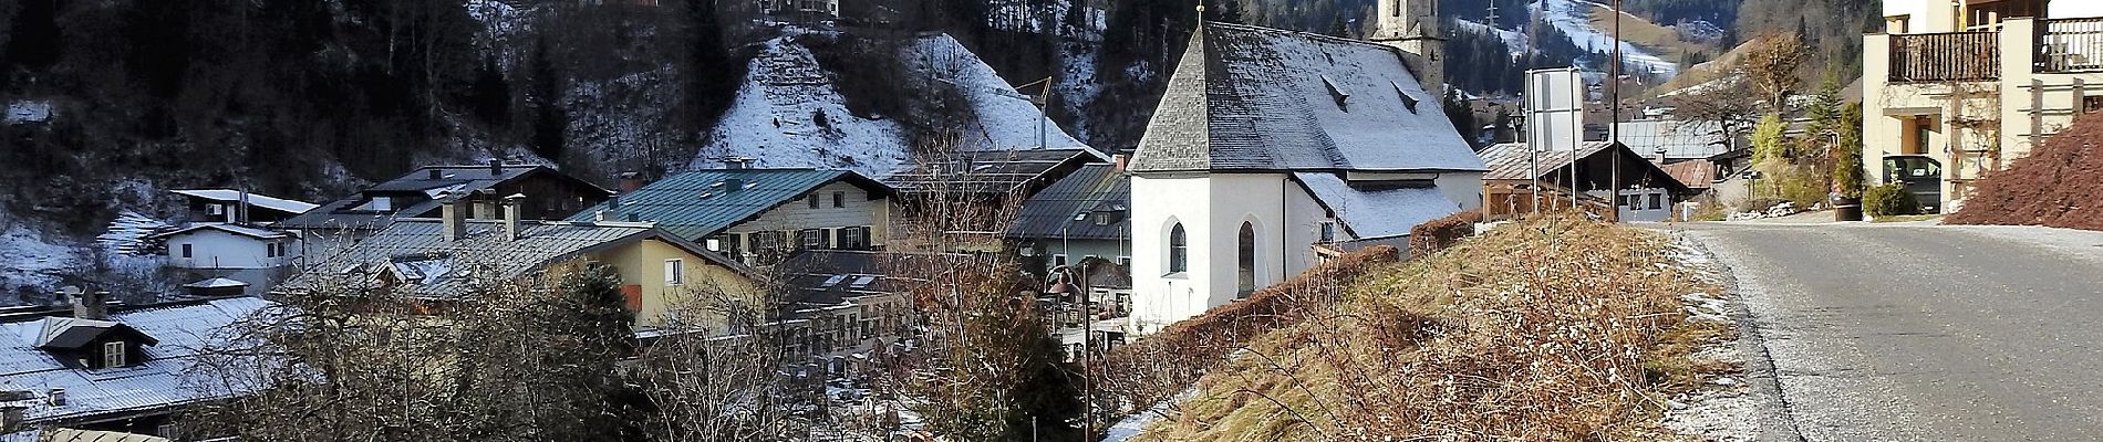
[[(118, 369), (74, 369), (38, 348), (44, 318), (0, 323), (0, 392), (29, 392), (0, 406), (25, 406), (29, 423), (63, 423), (244, 396), (257, 385), (198, 383), (185, 373), (200, 362), (200, 350), (225, 344), (221, 327), (271, 306), (259, 297), (221, 297), (114, 312), (107, 323), (158, 337), (158, 346), (143, 350), (145, 362)], [(53, 388), (65, 390), (63, 406), (46, 402)]]

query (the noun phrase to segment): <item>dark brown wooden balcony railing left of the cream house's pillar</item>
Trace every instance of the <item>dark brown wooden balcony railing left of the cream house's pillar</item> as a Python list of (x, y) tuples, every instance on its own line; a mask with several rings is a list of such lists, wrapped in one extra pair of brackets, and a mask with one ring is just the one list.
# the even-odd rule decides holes
[(2000, 80), (2000, 34), (1891, 36), (1891, 82)]

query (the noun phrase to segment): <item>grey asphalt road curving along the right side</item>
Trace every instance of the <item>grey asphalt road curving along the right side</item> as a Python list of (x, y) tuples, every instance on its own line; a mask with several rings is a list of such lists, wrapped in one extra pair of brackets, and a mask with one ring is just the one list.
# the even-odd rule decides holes
[(1672, 228), (1729, 266), (1779, 440), (2103, 440), (2103, 233)]

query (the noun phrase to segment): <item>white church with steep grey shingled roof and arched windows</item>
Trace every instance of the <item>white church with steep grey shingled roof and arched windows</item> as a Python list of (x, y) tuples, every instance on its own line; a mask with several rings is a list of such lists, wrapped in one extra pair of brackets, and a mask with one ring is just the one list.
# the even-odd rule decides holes
[(1432, 0), (1382, 0), (1371, 42), (1201, 23), (1131, 157), (1131, 333), (1247, 297), (1314, 245), (1401, 243), (1481, 207), (1441, 109)]

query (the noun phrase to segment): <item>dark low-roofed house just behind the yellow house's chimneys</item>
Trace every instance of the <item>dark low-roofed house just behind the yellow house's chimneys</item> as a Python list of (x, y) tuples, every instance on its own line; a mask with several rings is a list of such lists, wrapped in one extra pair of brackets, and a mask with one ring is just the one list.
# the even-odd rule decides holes
[(425, 165), (278, 222), (275, 228), (292, 230), (303, 239), (305, 251), (301, 256), (326, 256), (387, 228), (397, 218), (435, 218), (442, 195), (469, 201), (465, 207), (469, 218), (494, 218), (505, 197), (524, 195), (522, 216), (562, 220), (606, 201), (612, 191), (547, 165), (517, 165), (496, 159), (490, 159), (488, 165)]

